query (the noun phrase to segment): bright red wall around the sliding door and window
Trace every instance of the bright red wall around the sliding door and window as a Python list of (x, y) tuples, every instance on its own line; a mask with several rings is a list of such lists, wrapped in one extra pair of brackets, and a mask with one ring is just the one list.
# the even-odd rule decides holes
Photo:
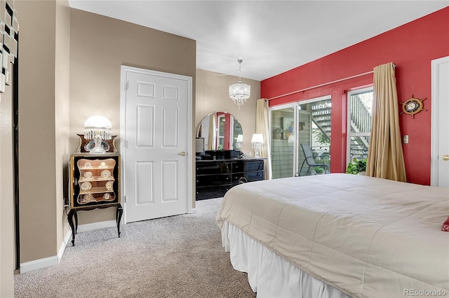
[[(403, 144), (407, 180), (430, 185), (431, 148), (431, 60), (449, 55), (449, 7), (426, 15), (361, 43), (351, 45), (326, 57), (298, 66), (278, 76), (262, 80), (262, 98), (277, 97), (296, 90), (328, 83), (341, 78), (372, 71), (373, 67), (396, 64), (398, 101), (414, 97), (424, 99), (424, 108), (412, 119), (399, 116), (401, 135), (409, 135)], [(331, 94), (332, 96), (332, 159), (330, 171), (346, 169), (346, 92), (372, 85), (373, 74), (317, 87), (269, 101), (269, 106), (301, 101)], [(398, 103), (399, 106), (399, 103)], [(401, 111), (401, 106), (399, 106)]]

